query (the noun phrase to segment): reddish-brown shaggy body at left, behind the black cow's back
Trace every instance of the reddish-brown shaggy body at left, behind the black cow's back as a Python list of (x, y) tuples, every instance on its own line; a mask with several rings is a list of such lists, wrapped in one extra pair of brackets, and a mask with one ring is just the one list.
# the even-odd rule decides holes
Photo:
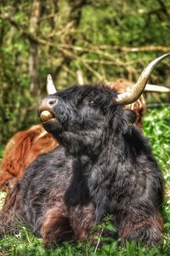
[(5, 148), (0, 172), (0, 188), (7, 190), (16, 177), (23, 177), (26, 167), (37, 158), (37, 155), (48, 153), (58, 143), (42, 125), (31, 126), (26, 131), (17, 132)]

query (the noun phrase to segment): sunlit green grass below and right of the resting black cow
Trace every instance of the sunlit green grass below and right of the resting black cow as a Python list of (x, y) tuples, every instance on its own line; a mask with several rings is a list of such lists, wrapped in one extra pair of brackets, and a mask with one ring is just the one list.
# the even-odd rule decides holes
[[(166, 197), (163, 204), (164, 239), (156, 247), (136, 247), (127, 243), (119, 247), (118, 241), (112, 240), (103, 247), (91, 247), (89, 241), (83, 243), (63, 243), (54, 249), (44, 249), (42, 240), (35, 237), (25, 227), (15, 236), (6, 236), (0, 240), (0, 255), (116, 255), (116, 256), (163, 256), (170, 255), (170, 108), (150, 110), (144, 118), (144, 135), (150, 138), (150, 143), (166, 182)], [(1, 193), (3, 201), (4, 194)], [(102, 228), (105, 228), (105, 225)]]

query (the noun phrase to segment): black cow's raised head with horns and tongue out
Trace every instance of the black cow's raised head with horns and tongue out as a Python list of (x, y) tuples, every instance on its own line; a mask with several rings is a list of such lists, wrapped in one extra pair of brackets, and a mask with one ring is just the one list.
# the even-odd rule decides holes
[(132, 89), (122, 94), (102, 84), (74, 86), (54, 93), (48, 76), (48, 87), (52, 85), (54, 94), (45, 97), (39, 107), (43, 127), (74, 154), (98, 154), (101, 144), (128, 131), (128, 124), (135, 118), (122, 106), (139, 98), (150, 73), (167, 55), (151, 61)]

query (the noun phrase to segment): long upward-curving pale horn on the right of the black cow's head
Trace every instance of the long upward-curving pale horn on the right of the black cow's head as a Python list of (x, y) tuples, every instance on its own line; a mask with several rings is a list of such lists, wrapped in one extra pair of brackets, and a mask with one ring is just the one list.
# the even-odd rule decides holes
[(162, 55), (161, 57), (156, 58), (156, 60), (151, 61), (150, 64), (146, 68), (144, 68), (144, 71), (141, 73), (137, 83), (133, 85), (132, 89), (119, 94), (116, 98), (116, 102), (118, 104), (127, 105), (137, 101), (139, 96), (141, 96), (141, 94), (143, 93), (144, 87), (148, 79), (150, 78), (150, 74), (152, 73), (153, 69), (160, 61), (162, 61), (169, 55), (170, 53), (167, 53), (166, 55)]

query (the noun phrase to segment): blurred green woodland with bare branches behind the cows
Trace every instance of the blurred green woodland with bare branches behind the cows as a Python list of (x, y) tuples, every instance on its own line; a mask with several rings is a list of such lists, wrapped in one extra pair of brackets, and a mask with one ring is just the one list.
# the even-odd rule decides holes
[[(168, 0), (2, 0), (0, 7), (0, 143), (38, 122), (48, 73), (59, 89), (77, 84), (77, 70), (84, 83), (135, 81), (170, 51)], [(166, 60), (150, 83), (169, 81)]]

